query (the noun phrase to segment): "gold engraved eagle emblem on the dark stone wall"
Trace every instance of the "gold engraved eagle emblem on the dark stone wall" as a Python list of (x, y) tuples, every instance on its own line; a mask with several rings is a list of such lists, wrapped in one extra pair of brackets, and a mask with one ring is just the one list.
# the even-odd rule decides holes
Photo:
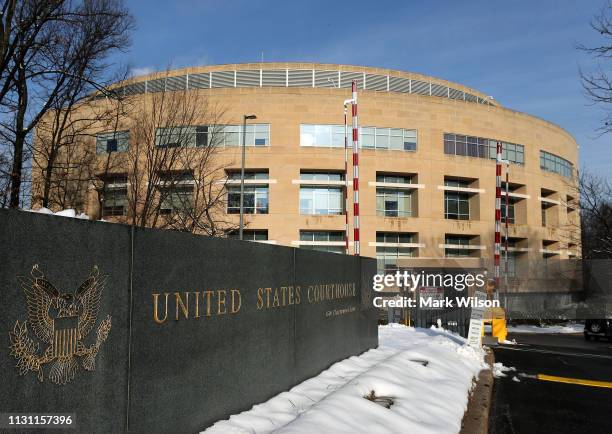
[[(23, 323), (17, 321), (9, 333), (11, 354), (18, 360), (20, 374), (37, 371), (43, 381), (42, 367), (53, 362), (49, 378), (53, 383), (66, 384), (74, 378), (79, 358), (85, 370), (93, 371), (100, 345), (110, 331), (110, 316), (100, 323), (94, 345), (86, 347), (83, 340), (96, 323), (107, 276), (100, 276), (94, 266), (74, 292), (58, 291), (38, 265), (32, 267), (29, 277), (17, 279), (25, 294), (28, 317)], [(40, 342), (47, 344), (42, 357), (37, 354), (38, 345), (27, 335), (28, 326)]]

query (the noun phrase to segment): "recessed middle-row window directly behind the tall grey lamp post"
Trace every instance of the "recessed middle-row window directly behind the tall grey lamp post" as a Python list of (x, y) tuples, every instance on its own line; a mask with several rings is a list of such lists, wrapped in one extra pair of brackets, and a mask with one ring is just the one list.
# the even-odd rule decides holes
[[(240, 172), (229, 172), (229, 180), (240, 180)], [(268, 172), (245, 172), (245, 180), (267, 180)], [(269, 188), (268, 184), (253, 184), (249, 182), (244, 185), (244, 213), (245, 214), (268, 214)], [(227, 213), (240, 214), (240, 185), (231, 184), (227, 187)]]

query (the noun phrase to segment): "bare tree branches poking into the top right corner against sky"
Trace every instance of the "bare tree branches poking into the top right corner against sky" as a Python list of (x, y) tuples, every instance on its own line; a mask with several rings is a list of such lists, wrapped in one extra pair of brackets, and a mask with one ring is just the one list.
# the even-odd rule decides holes
[[(612, 57), (612, 4), (606, 3), (591, 21), (591, 27), (599, 33), (602, 43), (598, 46), (588, 47), (579, 45), (578, 49), (592, 56), (598, 61), (607, 62)], [(601, 105), (604, 110), (603, 124), (599, 128), (602, 134), (612, 131), (612, 77), (606, 72), (605, 66), (598, 67), (594, 72), (580, 70), (582, 87), (587, 97), (594, 103)]]

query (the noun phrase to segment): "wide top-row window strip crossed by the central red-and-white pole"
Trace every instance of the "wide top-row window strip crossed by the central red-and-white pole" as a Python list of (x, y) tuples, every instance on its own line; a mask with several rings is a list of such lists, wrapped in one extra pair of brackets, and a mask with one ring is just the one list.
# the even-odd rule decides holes
[[(352, 146), (351, 126), (348, 145)], [(300, 146), (323, 148), (344, 147), (344, 125), (300, 125)], [(392, 151), (416, 151), (417, 132), (403, 128), (360, 127), (359, 147), (364, 149), (389, 149)]]

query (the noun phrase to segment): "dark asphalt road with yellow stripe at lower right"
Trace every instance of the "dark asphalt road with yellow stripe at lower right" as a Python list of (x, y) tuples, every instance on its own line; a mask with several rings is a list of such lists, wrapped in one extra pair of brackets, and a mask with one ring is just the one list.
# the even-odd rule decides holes
[[(517, 345), (495, 347), (495, 361), (516, 372), (495, 379), (490, 434), (612, 432), (612, 342), (586, 342), (580, 334), (508, 339)], [(570, 384), (538, 375), (564, 377)], [(576, 379), (594, 380), (598, 387), (573, 384)]]

